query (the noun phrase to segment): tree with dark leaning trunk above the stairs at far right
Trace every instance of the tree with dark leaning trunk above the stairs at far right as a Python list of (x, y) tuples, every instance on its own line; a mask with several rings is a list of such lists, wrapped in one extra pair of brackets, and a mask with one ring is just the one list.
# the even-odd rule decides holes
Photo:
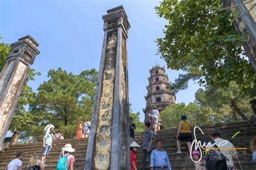
[(201, 111), (205, 111), (205, 115), (215, 122), (246, 120), (253, 114), (248, 103), (251, 98), (235, 82), (227, 88), (208, 86), (206, 90), (198, 89), (195, 97)]

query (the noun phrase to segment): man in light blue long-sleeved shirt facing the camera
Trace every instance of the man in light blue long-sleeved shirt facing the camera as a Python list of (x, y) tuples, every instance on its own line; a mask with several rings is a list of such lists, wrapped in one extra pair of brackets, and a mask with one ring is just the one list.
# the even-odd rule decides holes
[(167, 153), (162, 149), (162, 141), (157, 140), (157, 149), (150, 155), (151, 170), (171, 170)]

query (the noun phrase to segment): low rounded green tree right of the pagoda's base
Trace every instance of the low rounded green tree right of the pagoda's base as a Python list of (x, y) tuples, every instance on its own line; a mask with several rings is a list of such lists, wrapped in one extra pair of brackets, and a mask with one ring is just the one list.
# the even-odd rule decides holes
[(186, 115), (191, 125), (207, 124), (207, 117), (202, 115), (200, 107), (196, 103), (172, 104), (166, 107), (160, 112), (160, 118), (163, 120), (163, 126), (165, 129), (177, 128), (180, 122), (181, 115)]

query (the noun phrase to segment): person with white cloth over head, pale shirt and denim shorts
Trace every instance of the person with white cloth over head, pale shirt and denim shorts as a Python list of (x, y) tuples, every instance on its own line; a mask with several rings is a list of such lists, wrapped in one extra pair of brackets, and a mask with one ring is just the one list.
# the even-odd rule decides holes
[[(49, 129), (49, 131), (48, 131)], [(54, 131), (54, 126), (49, 126), (46, 130), (45, 130), (45, 135), (43, 138), (43, 154), (42, 154), (42, 164), (44, 166), (45, 165), (45, 160), (48, 158), (49, 152), (51, 150), (51, 146), (52, 146), (52, 140), (53, 140), (53, 131)]]

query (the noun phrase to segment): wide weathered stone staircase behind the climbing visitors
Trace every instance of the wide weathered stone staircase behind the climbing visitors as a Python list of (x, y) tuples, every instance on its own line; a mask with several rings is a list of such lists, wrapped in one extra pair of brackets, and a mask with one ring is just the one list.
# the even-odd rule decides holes
[[(237, 150), (238, 158), (242, 169), (256, 169), (256, 164), (252, 164), (252, 152), (250, 150), (250, 139), (256, 136), (256, 127), (247, 121), (230, 122), (213, 125), (202, 125), (201, 130), (205, 133), (205, 136), (201, 134), (199, 130), (196, 131), (198, 140), (208, 138), (208, 131), (211, 128), (218, 127), (223, 133), (221, 138), (230, 140), (235, 147), (246, 147), (246, 150)], [(191, 129), (193, 130), (193, 129)], [(232, 138), (233, 134), (237, 131), (240, 133)], [(163, 141), (163, 149), (168, 153), (171, 162), (172, 169), (194, 169), (194, 164), (190, 160), (186, 143), (181, 145), (181, 152), (177, 154), (176, 145), (176, 133), (177, 129), (166, 129), (157, 132), (154, 136), (153, 148), (156, 148), (156, 140), (161, 139)], [(136, 133), (135, 141), (142, 146), (144, 132)], [(49, 158), (47, 161), (48, 165), (45, 169), (55, 169), (56, 162), (58, 160), (60, 151), (65, 144), (71, 144), (76, 149), (73, 152), (75, 155), (75, 169), (83, 169), (84, 160), (86, 155), (87, 139), (65, 139), (60, 141), (54, 141), (53, 147), (50, 151)], [(42, 142), (31, 143), (31, 144), (19, 144), (16, 146), (10, 146), (4, 152), (0, 152), (0, 170), (4, 169), (8, 162), (15, 158), (18, 151), (24, 152), (23, 168), (28, 165), (30, 155), (34, 152), (42, 153)], [(142, 169), (142, 149), (137, 151), (138, 157), (138, 169)], [(147, 160), (147, 168), (149, 168), (149, 160)], [(240, 169), (238, 161), (235, 161), (235, 166)]]

